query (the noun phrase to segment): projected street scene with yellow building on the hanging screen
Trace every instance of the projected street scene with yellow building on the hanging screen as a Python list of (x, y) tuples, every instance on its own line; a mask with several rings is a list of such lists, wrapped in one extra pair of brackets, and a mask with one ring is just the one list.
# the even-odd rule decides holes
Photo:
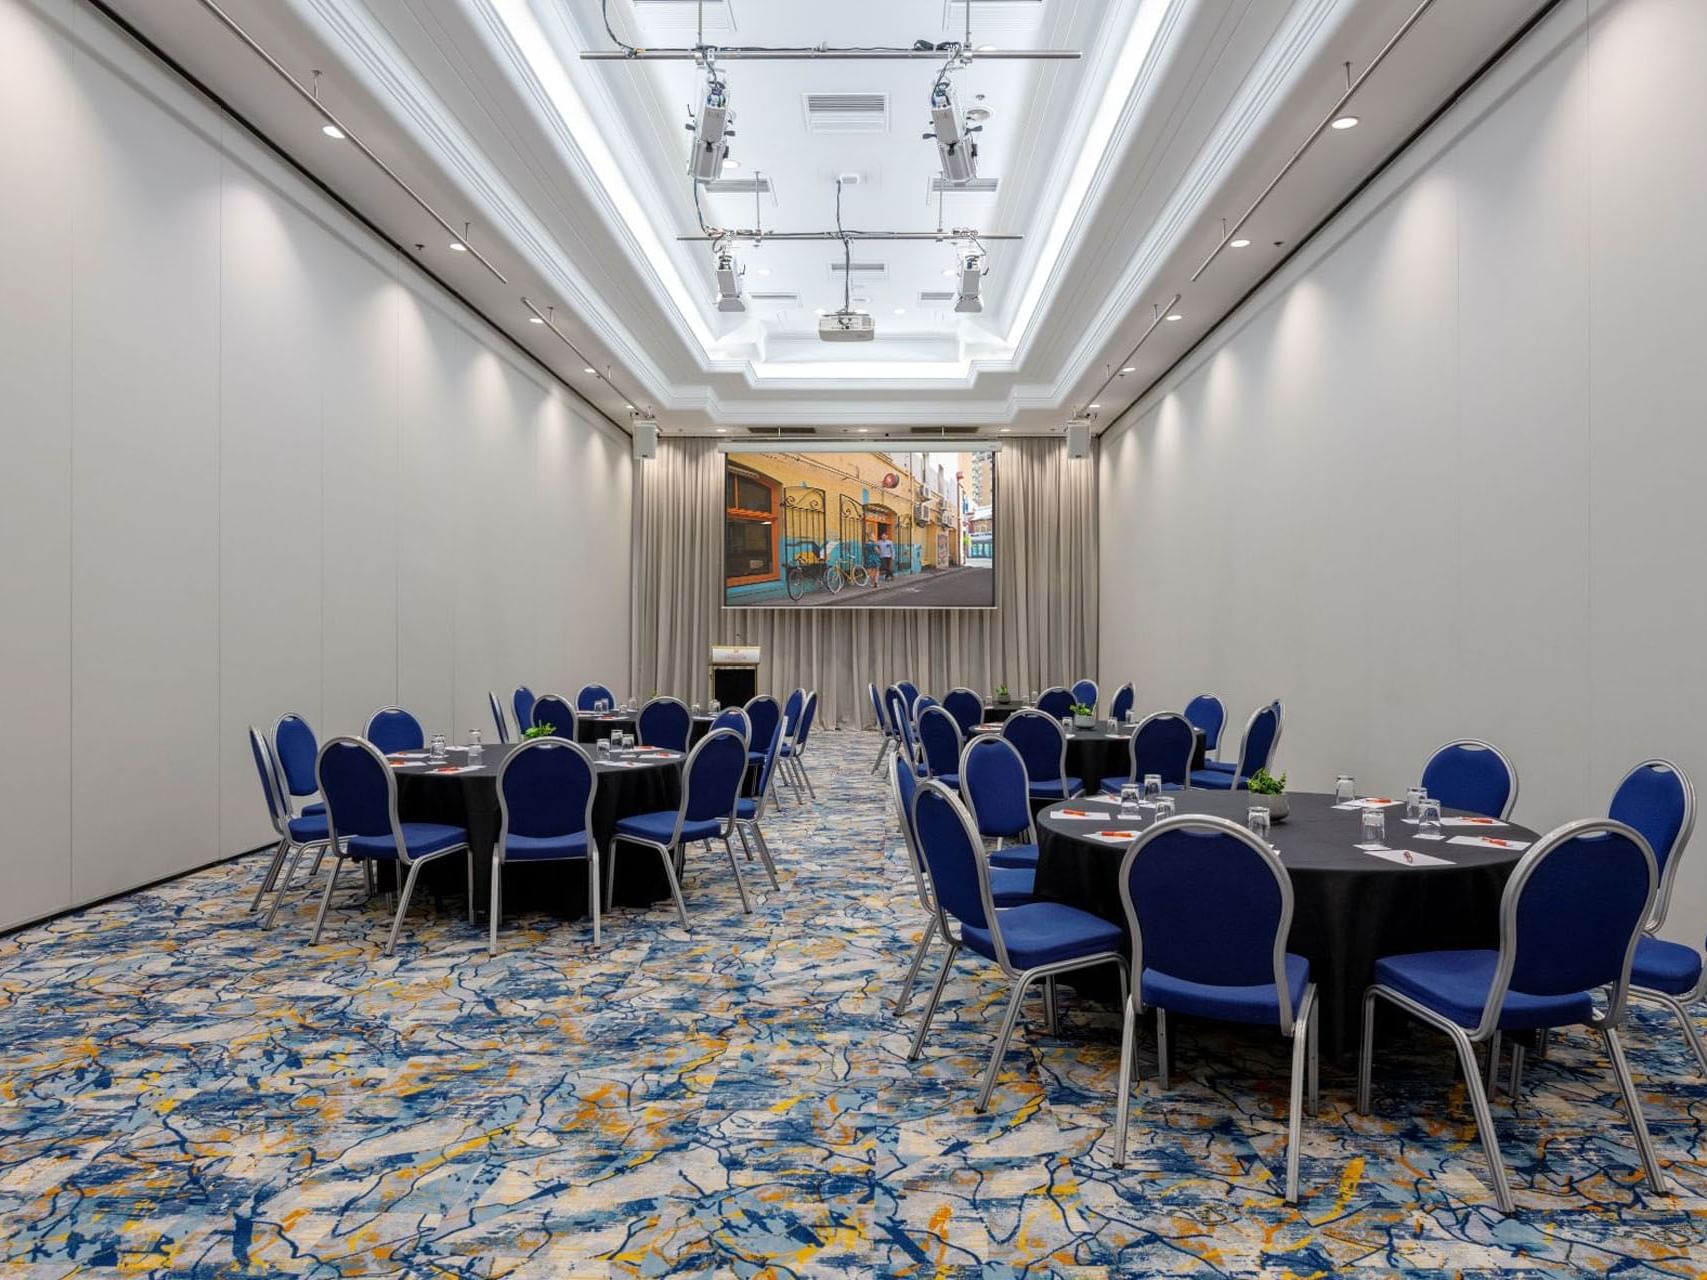
[(995, 454), (731, 452), (724, 604), (993, 609)]

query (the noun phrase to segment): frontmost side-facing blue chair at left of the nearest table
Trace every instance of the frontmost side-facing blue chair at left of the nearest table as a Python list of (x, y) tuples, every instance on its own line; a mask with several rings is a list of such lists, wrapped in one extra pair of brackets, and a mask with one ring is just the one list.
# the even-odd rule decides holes
[(930, 1021), (942, 1002), (942, 988), (959, 952), (970, 951), (992, 961), (1014, 988), (995, 1048), (990, 1051), (990, 1067), (983, 1073), (983, 1089), (978, 1092), (976, 1109), (985, 1111), (1031, 983), (1040, 980), (1045, 983), (1052, 1026), (1055, 1024), (1053, 985), (1063, 973), (1113, 964), (1120, 971), (1120, 1000), (1125, 1004), (1127, 957), (1121, 954), (1120, 925), (1065, 903), (997, 906), (992, 870), (978, 847), (971, 814), (941, 782), (918, 783), (918, 795), (913, 797), (913, 833), (930, 876), (937, 930), (947, 939), (949, 952), (942, 959), (935, 986), (930, 988), (908, 1062), (917, 1062), (923, 1051)]

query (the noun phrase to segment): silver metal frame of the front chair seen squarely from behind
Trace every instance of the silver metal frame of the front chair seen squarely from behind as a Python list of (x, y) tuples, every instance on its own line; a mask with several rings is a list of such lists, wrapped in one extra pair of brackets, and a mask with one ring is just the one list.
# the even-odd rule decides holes
[[(1174, 715), (1174, 712), (1166, 712)], [(1185, 717), (1180, 717), (1185, 720)], [(1190, 720), (1186, 720), (1190, 724)], [(1316, 1022), (1316, 983), (1304, 983), (1304, 993), (1299, 997), (1297, 1009), (1292, 1009), (1292, 988), (1287, 983), (1285, 973), (1285, 944), (1292, 932), (1292, 877), (1287, 874), (1285, 865), (1280, 862), (1279, 855), (1268, 847), (1267, 841), (1258, 840), (1248, 829), (1232, 823), (1226, 817), (1210, 817), (1209, 814), (1181, 814), (1178, 817), (1169, 817), (1166, 821), (1156, 823), (1144, 835), (1133, 840), (1127, 847), (1127, 855), (1120, 860), (1120, 905), (1127, 913), (1127, 932), (1132, 937), (1132, 993), (1125, 1002), (1125, 1015), (1121, 1019), (1120, 1029), (1120, 1099), (1115, 1104), (1115, 1166), (1123, 1167), (1127, 1164), (1127, 1121), (1130, 1114), (1130, 1097), (1132, 1097), (1132, 1079), (1137, 1073), (1139, 1053), (1137, 1053), (1137, 1026), (1139, 1017), (1145, 1012), (1144, 1007), (1144, 930), (1139, 927), (1139, 908), (1132, 901), (1132, 867), (1142, 857), (1144, 850), (1151, 841), (1164, 836), (1171, 831), (1188, 831), (1203, 835), (1224, 835), (1232, 836), (1241, 845), (1250, 848), (1261, 858), (1263, 865), (1268, 867), (1270, 874), (1275, 877), (1275, 886), (1280, 891), (1280, 915), (1275, 922), (1275, 939), (1273, 939), (1273, 978), (1275, 978), (1275, 1004), (1280, 1010), (1280, 1034), (1292, 1041), (1292, 1099), (1287, 1108), (1287, 1138), (1285, 1138), (1285, 1201), (1289, 1205), (1297, 1203), (1297, 1171), (1299, 1161), (1302, 1157), (1304, 1142), (1304, 1104), (1306, 1104), (1306, 1082), (1308, 1082), (1308, 1104), (1309, 1114), (1316, 1114), (1316, 1104), (1320, 1097), (1320, 1055), (1318, 1055), (1318, 1022)], [(1169, 1085), (1169, 1068), (1168, 1068), (1168, 1010), (1156, 1010), (1156, 1075), (1162, 1089)]]

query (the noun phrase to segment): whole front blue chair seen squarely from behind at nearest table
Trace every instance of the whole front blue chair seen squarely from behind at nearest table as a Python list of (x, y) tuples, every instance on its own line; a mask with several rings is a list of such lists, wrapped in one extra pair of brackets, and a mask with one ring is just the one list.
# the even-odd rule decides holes
[[(1183, 717), (1181, 717), (1183, 720)], [(1309, 1082), (1316, 1113), (1316, 985), (1309, 961), (1285, 949), (1292, 881), (1261, 840), (1224, 817), (1157, 823), (1120, 864), (1120, 905), (1132, 935), (1132, 997), (1120, 1036), (1115, 1164), (1127, 1162), (1127, 1114), (1137, 1072), (1137, 1022), (1156, 1010), (1156, 1062), (1168, 1087), (1168, 1014), (1272, 1026), (1292, 1041), (1285, 1201), (1297, 1203), (1297, 1166)]]

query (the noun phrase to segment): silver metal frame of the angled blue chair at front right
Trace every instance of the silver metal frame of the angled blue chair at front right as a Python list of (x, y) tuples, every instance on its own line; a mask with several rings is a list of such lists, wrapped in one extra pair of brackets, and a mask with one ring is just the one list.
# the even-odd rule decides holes
[[(1499, 961), (1494, 968), (1494, 980), (1489, 985), (1489, 993), (1482, 1002), (1482, 1021), (1475, 1027), (1465, 1029), (1444, 1014), (1437, 1014), (1419, 1000), (1413, 1000), (1391, 986), (1371, 983), (1364, 990), (1362, 1051), (1357, 1056), (1357, 1113), (1362, 1116), (1369, 1114), (1369, 1089), (1371, 1077), (1374, 1073), (1374, 1015), (1378, 998), (1386, 1000), (1391, 1005), (1398, 1005), (1413, 1017), (1444, 1031), (1453, 1041), (1453, 1048), (1458, 1050), (1458, 1063), (1465, 1073), (1465, 1089), (1470, 1094), (1470, 1104), (1477, 1116), (1477, 1132), (1482, 1135), (1482, 1150), (1487, 1155), (1489, 1172), (1492, 1174), (1494, 1201), (1499, 1205), (1499, 1210), (1507, 1215), (1514, 1212), (1511, 1183), (1506, 1176), (1506, 1161), (1500, 1155), (1499, 1135), (1494, 1130), (1494, 1113), (1489, 1109), (1487, 1089), (1482, 1082), (1482, 1070), (1477, 1065), (1475, 1046), (1482, 1043), (1489, 1044), (1489, 1067), (1492, 1075), (1492, 1068), (1499, 1062), (1499, 1019), (1506, 1007), (1506, 995), (1511, 990), (1512, 969), (1518, 964), (1518, 908), (1523, 901), (1524, 887), (1529, 884), (1529, 879), (1540, 865), (1555, 850), (1570, 845), (1579, 836), (1601, 833), (1634, 840), (1637, 848), (1642, 850), (1642, 857), (1647, 860), (1647, 901), (1642, 906), (1637, 927), (1630, 930), (1630, 942), (1625, 947), (1623, 971), (1618, 981), (1603, 988), (1606, 995), (1606, 1007), (1603, 1010), (1593, 1010), (1586, 1026), (1591, 1031), (1598, 1031), (1601, 1041), (1606, 1044), (1606, 1056), (1611, 1060), (1613, 1077), (1618, 1080), (1618, 1091), (1623, 1094), (1623, 1104), (1630, 1114), (1630, 1128), (1635, 1132), (1635, 1145), (1642, 1157), (1649, 1190), (1652, 1190), (1654, 1195), (1669, 1195), (1666, 1176), (1659, 1167), (1659, 1155), (1654, 1150), (1654, 1140), (1647, 1132), (1647, 1120), (1642, 1116), (1642, 1099), (1635, 1092), (1635, 1082), (1630, 1079), (1630, 1065), (1623, 1056), (1623, 1043), (1618, 1038), (1618, 1024), (1623, 1022), (1625, 1002), (1630, 993), (1630, 963), (1635, 959), (1637, 939), (1640, 939), (1644, 932), (1640, 922), (1646, 922), (1654, 908), (1654, 893), (1659, 882), (1654, 852), (1649, 848), (1647, 840), (1642, 838), (1640, 831), (1635, 831), (1623, 823), (1613, 823), (1606, 817), (1586, 817), (1555, 828), (1548, 835), (1541, 836), (1541, 840), (1538, 840), (1523, 855), (1518, 867), (1512, 870), (1511, 879), (1506, 881), (1506, 891), (1500, 894)], [(1514, 1073), (1516, 1070), (1518, 1068), (1514, 1065)]]

